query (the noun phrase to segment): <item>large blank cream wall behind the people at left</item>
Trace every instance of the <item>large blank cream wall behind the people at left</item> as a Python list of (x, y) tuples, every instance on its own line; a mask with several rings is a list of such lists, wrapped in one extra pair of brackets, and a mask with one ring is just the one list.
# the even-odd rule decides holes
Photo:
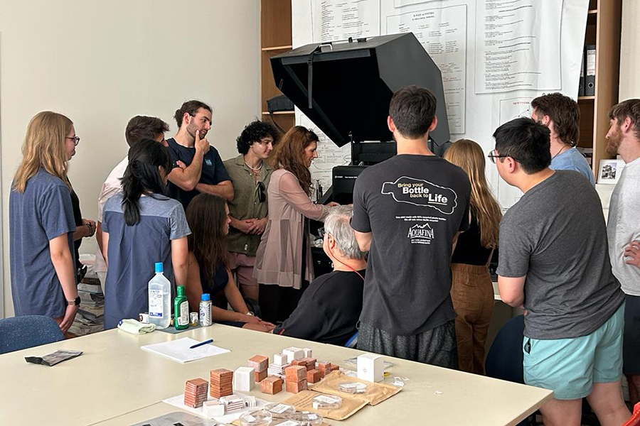
[[(0, 33), (0, 279), (9, 317), (9, 192), (29, 119), (48, 109), (74, 121), (82, 141), (70, 180), (87, 218), (127, 154), (124, 127), (134, 115), (164, 119), (173, 135), (174, 111), (201, 99), (214, 110), (209, 141), (223, 159), (236, 155), (235, 137), (260, 116), (260, 2), (0, 0)], [(81, 251), (94, 250), (85, 240)]]

